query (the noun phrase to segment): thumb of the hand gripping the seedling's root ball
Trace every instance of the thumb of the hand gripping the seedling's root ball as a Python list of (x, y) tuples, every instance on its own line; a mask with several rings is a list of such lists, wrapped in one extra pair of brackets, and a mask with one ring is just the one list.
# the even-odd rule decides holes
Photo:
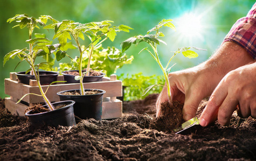
[(185, 121), (190, 120), (196, 116), (197, 108), (203, 98), (198, 97), (196, 93), (189, 93), (185, 97), (183, 106), (183, 118)]

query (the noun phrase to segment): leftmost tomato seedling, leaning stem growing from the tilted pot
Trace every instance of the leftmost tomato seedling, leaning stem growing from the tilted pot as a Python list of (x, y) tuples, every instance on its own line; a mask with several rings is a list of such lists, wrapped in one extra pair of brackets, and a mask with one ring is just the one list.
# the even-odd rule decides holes
[[(22, 98), (20, 98), (19, 101), (21, 101), (28, 94), (42, 96), (46, 102), (46, 105), (49, 107), (49, 109), (53, 110), (54, 107), (51, 105), (49, 99), (46, 97), (46, 92), (48, 89), (45, 92), (43, 91), (41, 84), (40, 84), (40, 78), (39, 78), (39, 69), (49, 69), (50, 65), (52, 63), (41, 62), (39, 64), (35, 64), (35, 61), (38, 56), (50, 55), (56, 51), (58, 51), (57, 53), (64, 53), (64, 54), (65, 54), (65, 52), (60, 50), (59, 43), (52, 45), (52, 42), (49, 39), (45, 38), (44, 34), (35, 34), (35, 38), (32, 38), (34, 28), (35, 27), (39, 28), (37, 26), (37, 24), (39, 24), (41, 26), (45, 26), (45, 24), (47, 23), (47, 20), (49, 20), (49, 19), (52, 20), (53, 23), (56, 22), (56, 20), (54, 20), (51, 16), (41, 16), (38, 19), (36, 19), (34, 17), (27, 16), (27, 14), (16, 14), (15, 17), (9, 18), (7, 20), (7, 22), (11, 23), (12, 21), (16, 21), (19, 23), (18, 25), (14, 26), (14, 27), (19, 26), (21, 29), (24, 27), (28, 28), (29, 39), (26, 40), (26, 42), (29, 44), (29, 48), (16, 49), (16, 50), (13, 50), (12, 52), (6, 54), (4, 56), (3, 64), (5, 64), (8, 60), (10, 60), (10, 58), (14, 58), (15, 56), (17, 56), (20, 59), (20, 62), (26, 61), (27, 63), (29, 63), (30, 69), (27, 70), (26, 73), (29, 71), (32, 71), (32, 74), (36, 77), (37, 84), (38, 84), (41, 94), (39, 95), (39, 94), (35, 94), (35, 93), (27, 93)], [(16, 67), (17, 67), (17, 65), (16, 65)], [(57, 82), (63, 82), (63, 81), (56, 81), (56, 82), (52, 82), (51, 84), (57, 83)], [(19, 101), (17, 103), (19, 103)]]

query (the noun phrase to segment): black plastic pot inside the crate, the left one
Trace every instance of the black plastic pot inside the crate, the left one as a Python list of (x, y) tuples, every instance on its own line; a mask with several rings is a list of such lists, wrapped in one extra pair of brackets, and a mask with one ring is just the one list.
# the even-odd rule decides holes
[[(25, 71), (16, 72), (18, 82), (29, 85), (30, 79), (36, 79), (34, 75), (29, 75), (29, 72), (25, 74)], [(41, 85), (49, 85), (54, 81), (57, 81), (59, 72), (55, 71), (39, 71), (39, 78)]]

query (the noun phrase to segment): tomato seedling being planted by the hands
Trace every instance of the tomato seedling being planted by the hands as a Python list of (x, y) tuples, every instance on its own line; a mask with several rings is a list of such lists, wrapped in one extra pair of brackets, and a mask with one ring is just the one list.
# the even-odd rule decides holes
[[(139, 54), (143, 51), (143, 50), (147, 50), (148, 53), (154, 58), (154, 60), (158, 63), (159, 67), (161, 68), (162, 72), (163, 72), (163, 76), (165, 79), (165, 83), (167, 85), (167, 89), (168, 89), (168, 97), (169, 100), (171, 100), (171, 91), (170, 91), (170, 83), (169, 83), (169, 79), (168, 79), (168, 73), (171, 70), (171, 67), (169, 68), (169, 64), (172, 60), (172, 58), (174, 58), (175, 55), (177, 55), (178, 53), (182, 53), (185, 57), (189, 57), (189, 58), (193, 58), (193, 57), (197, 57), (198, 54), (192, 50), (189, 49), (197, 49), (197, 50), (204, 50), (204, 49), (200, 49), (200, 48), (196, 48), (196, 47), (182, 47), (182, 48), (178, 48), (178, 50), (176, 52), (174, 52), (174, 55), (171, 56), (171, 58), (169, 59), (167, 65), (165, 65), (165, 67), (162, 65), (162, 63), (160, 62), (160, 58), (158, 57), (158, 52), (157, 52), (157, 45), (160, 45), (160, 42), (164, 43), (165, 45), (167, 45), (163, 40), (159, 39), (159, 36), (164, 36), (164, 34), (162, 32), (160, 32), (160, 28), (162, 26), (166, 26), (171, 28), (172, 30), (176, 31), (176, 28), (174, 26), (174, 24), (171, 23), (171, 19), (163, 19), (162, 21), (160, 21), (160, 23), (158, 23), (158, 25), (156, 25), (155, 27), (153, 27), (151, 30), (149, 30), (147, 32), (146, 35), (137, 35), (137, 36), (133, 36), (132, 38), (129, 38), (125, 41), (123, 41), (121, 43), (122, 46), (122, 52), (126, 51), (131, 45), (132, 43), (135, 44), (135, 46), (137, 46), (139, 43), (141, 42), (147, 42), (149, 44), (149, 46), (151, 47), (151, 49), (153, 49), (153, 53), (148, 49), (148, 47), (143, 48)], [(155, 32), (155, 34), (149, 34), (151, 32)], [(137, 40), (139, 42), (137, 42)], [(145, 89), (143, 91), (143, 94), (146, 94), (151, 88), (153, 88), (156, 85), (161, 85), (161, 84), (154, 84), (151, 85), (149, 87), (147, 87), (147, 89)], [(163, 85), (161, 85), (163, 86)]]

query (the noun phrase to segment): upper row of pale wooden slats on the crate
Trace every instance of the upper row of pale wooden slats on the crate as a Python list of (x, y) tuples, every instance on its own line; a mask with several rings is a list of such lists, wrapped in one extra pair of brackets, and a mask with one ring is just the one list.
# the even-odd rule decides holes
[[(48, 85), (43, 85), (43, 90), (46, 91)], [(119, 97), (122, 96), (122, 82), (121, 80), (115, 81), (103, 81), (84, 83), (85, 89), (100, 89), (105, 90), (106, 93), (103, 97)], [(46, 96), (50, 101), (59, 101), (59, 97), (56, 94), (59, 91), (79, 89), (79, 84), (56, 84), (51, 85), (46, 93)], [(5, 79), (5, 94), (15, 98), (22, 98), (27, 93), (40, 94), (38, 86), (30, 86), (22, 83), (18, 83), (15, 80)], [(23, 99), (27, 103), (42, 103), (43, 98), (30, 94)]]

